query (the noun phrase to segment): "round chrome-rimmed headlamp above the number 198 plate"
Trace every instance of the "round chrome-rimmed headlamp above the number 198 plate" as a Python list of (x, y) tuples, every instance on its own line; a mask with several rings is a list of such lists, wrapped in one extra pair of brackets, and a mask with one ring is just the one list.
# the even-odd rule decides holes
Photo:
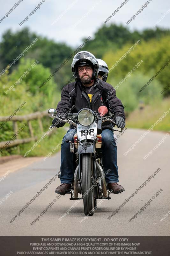
[(94, 122), (95, 115), (91, 109), (81, 109), (77, 115), (78, 123), (84, 126), (89, 126)]

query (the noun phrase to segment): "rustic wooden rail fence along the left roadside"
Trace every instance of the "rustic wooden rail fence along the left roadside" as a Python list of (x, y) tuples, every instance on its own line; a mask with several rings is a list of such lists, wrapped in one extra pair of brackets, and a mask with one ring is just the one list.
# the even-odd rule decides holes
[[(10, 141), (11, 143), (9, 145), (6, 145), (6, 143), (9, 141), (1, 141), (0, 142), (0, 148), (3, 148), (3, 146), (5, 146), (5, 148), (10, 148), (19, 144), (23, 144), (23, 143), (28, 143), (30, 141), (36, 141), (38, 138), (37, 136), (34, 136), (33, 134), (33, 128), (32, 128), (32, 124), (31, 124), (31, 120), (37, 119), (38, 120), (38, 124), (40, 127), (40, 131), (43, 134), (43, 126), (42, 126), (42, 121), (41, 118), (44, 116), (48, 116), (48, 110), (42, 111), (42, 112), (35, 112), (35, 113), (31, 113), (28, 115), (23, 115), (23, 116), (13, 116), (13, 118), (11, 120), (9, 120), (8, 122), (13, 122), (13, 130), (14, 130), (14, 134), (17, 133), (18, 131), (18, 124), (17, 121), (27, 121), (28, 122), (28, 127), (29, 127), (29, 132), (30, 132), (30, 138), (26, 138), (26, 139), (16, 139), (16, 140), (12, 140)], [(4, 122), (7, 120), (7, 118), (9, 118), (9, 116), (0, 116), (0, 122)], [(52, 132), (54, 132), (55, 129), (51, 129), (51, 131), (48, 133), (48, 135), (51, 135)], [(17, 134), (16, 134), (17, 135)], [(18, 153), (19, 153), (19, 147), (18, 148)]]

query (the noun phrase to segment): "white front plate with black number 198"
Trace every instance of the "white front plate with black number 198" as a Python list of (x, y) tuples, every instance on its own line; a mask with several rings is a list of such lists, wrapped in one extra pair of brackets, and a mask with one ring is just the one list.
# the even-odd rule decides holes
[(95, 140), (97, 136), (97, 123), (94, 122), (89, 126), (83, 126), (81, 124), (77, 125), (77, 136), (78, 140), (85, 140), (85, 133), (87, 134), (87, 139)]

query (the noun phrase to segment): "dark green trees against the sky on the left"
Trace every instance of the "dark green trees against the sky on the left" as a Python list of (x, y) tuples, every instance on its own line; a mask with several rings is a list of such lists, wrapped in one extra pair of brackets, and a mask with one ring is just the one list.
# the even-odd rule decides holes
[[(44, 67), (51, 70), (61, 65), (63, 60), (72, 53), (72, 48), (66, 44), (56, 43), (54, 40), (38, 36), (35, 33), (31, 33), (28, 28), (15, 33), (12, 33), (11, 29), (9, 29), (2, 36), (2, 42), (0, 43), (1, 68), (6, 68), (36, 38), (38, 38), (37, 42), (25, 53), (25, 57), (36, 58)], [(16, 64), (18, 64), (18, 61)], [(16, 68), (16, 64), (10, 69), (10, 72), (14, 67)]]

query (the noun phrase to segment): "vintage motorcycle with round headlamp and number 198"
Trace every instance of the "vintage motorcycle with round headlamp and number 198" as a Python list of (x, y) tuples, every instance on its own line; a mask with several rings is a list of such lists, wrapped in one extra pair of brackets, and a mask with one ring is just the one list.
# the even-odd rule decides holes
[[(97, 112), (97, 111), (95, 111)], [(105, 116), (107, 107), (101, 106), (97, 113), (91, 109), (83, 108), (78, 113), (69, 113), (63, 119), (68, 124), (76, 127), (77, 133), (74, 141), (70, 142), (70, 151), (73, 153), (74, 181), (71, 185), (70, 200), (83, 199), (85, 215), (92, 216), (97, 208), (97, 199), (111, 199), (102, 165), (102, 123), (110, 121), (115, 124), (111, 116)], [(55, 108), (48, 110), (52, 118), (57, 116)], [(53, 125), (49, 129), (54, 128)], [(122, 132), (121, 130), (114, 130)], [(78, 194), (82, 197), (78, 197)]]

